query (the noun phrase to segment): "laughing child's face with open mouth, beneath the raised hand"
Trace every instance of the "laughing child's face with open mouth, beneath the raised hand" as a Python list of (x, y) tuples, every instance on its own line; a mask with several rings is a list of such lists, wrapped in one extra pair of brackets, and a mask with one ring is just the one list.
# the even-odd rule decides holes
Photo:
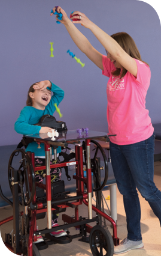
[(43, 90), (37, 89), (34, 93), (30, 93), (29, 96), (32, 99), (34, 108), (44, 110), (51, 100), (51, 91), (47, 90), (47, 88)]

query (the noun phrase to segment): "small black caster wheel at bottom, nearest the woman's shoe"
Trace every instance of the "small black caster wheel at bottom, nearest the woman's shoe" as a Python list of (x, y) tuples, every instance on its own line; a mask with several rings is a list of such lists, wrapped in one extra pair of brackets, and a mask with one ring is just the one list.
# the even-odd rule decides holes
[(113, 256), (114, 254), (113, 237), (103, 225), (92, 228), (89, 243), (93, 256)]

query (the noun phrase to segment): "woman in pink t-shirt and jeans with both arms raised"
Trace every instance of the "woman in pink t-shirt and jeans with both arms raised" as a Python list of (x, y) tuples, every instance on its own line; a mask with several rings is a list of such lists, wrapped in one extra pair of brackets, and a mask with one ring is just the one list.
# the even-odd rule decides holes
[[(56, 7), (53, 12), (55, 10)], [(71, 19), (78, 19), (72, 22), (62, 8), (57, 7), (57, 12), (63, 14), (60, 22), (65, 25), (74, 43), (102, 70), (103, 75), (109, 77), (108, 135), (117, 135), (110, 136), (111, 162), (118, 189), (123, 195), (127, 220), (127, 237), (114, 248), (114, 254), (142, 248), (141, 209), (136, 187), (161, 224), (161, 192), (153, 182), (155, 136), (148, 110), (145, 109), (150, 68), (142, 61), (129, 34), (120, 32), (110, 36), (80, 11), (71, 14)], [(105, 47), (107, 56), (93, 48), (74, 23), (89, 28)]]

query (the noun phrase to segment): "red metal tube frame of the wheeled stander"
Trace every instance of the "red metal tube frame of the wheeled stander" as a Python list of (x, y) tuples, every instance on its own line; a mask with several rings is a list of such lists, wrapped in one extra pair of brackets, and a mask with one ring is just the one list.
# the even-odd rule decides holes
[[(38, 143), (44, 143), (45, 145), (45, 151), (49, 151), (50, 150), (50, 145), (48, 144), (48, 142), (44, 142), (42, 139), (36, 139), (36, 141)], [(90, 139), (86, 139), (86, 146), (90, 145)], [(28, 152), (29, 157), (31, 158), (31, 162), (32, 165), (34, 167), (35, 171), (39, 171), (41, 169), (45, 169), (45, 166), (39, 166), (39, 167), (35, 167), (35, 156), (34, 153)], [(81, 200), (77, 200), (77, 202), (74, 202), (72, 204), (74, 204), (75, 206), (77, 206), (75, 208), (75, 218), (71, 218), (68, 215), (63, 214), (62, 218), (64, 222), (67, 223), (73, 223), (75, 221), (78, 221), (79, 219), (79, 214), (78, 214), (78, 206), (82, 203), (84, 203), (86, 206), (88, 206), (88, 202), (87, 202), (87, 194), (84, 193), (84, 183), (87, 184), (87, 193), (92, 192), (92, 171), (91, 168), (86, 168), (87, 171), (87, 177), (84, 177), (84, 171), (83, 171), (83, 148), (80, 146), (75, 146), (75, 161), (76, 165), (75, 165), (75, 175), (73, 175), (73, 178), (76, 180), (76, 186), (77, 186), (77, 195), (82, 195), (83, 199)], [(69, 162), (71, 163), (71, 162)], [(50, 165), (50, 168), (57, 168), (57, 167), (63, 167), (66, 166), (66, 163), (57, 163), (57, 164), (52, 164)], [(51, 178), (50, 175), (45, 175), (45, 179), (46, 179), (46, 184), (40, 184), (40, 183), (36, 183), (36, 186), (38, 187), (42, 187), (43, 189), (46, 190), (46, 194), (47, 194), (47, 200), (51, 201)], [(33, 243), (33, 239), (34, 241), (37, 240), (37, 236), (34, 236), (34, 231), (37, 230), (37, 213), (42, 213), (42, 212), (47, 212), (47, 209), (43, 209), (43, 205), (41, 202), (36, 200), (36, 191), (35, 191), (35, 195), (34, 195), (34, 200), (32, 202), (33, 204), (37, 204), (37, 210), (32, 210), (31, 211), (31, 222), (29, 225), (29, 240), (28, 240), (28, 248), (29, 248), (29, 255), (28, 256), (32, 256), (32, 243)], [(65, 203), (61, 204), (58, 207), (62, 207), (62, 208), (67, 208), (69, 206), (67, 206)], [(52, 208), (51, 210), (55, 210), (54, 208)], [(94, 210), (96, 213), (98, 213), (99, 215), (101, 215), (102, 217), (104, 217), (105, 219), (107, 219), (108, 221), (111, 222), (111, 224), (113, 225), (113, 240), (114, 240), (114, 245), (118, 245), (119, 244), (119, 238), (117, 237), (117, 226), (116, 226), (116, 222), (114, 222), (114, 220), (106, 215), (105, 213), (101, 212), (101, 210), (97, 209), (95, 206), (92, 205), (92, 210)], [(23, 215), (23, 212), (22, 212)], [(9, 222), (13, 220), (13, 216), (4, 219), (3, 221), (0, 222), (0, 226), (2, 224), (5, 224), (6, 222)], [(88, 224), (86, 224), (86, 231), (87, 233), (90, 233), (92, 227)], [(13, 252), (13, 248), (8, 245), (7, 243), (5, 243), (5, 246), (11, 251)], [(17, 254), (20, 255), (20, 254)]]

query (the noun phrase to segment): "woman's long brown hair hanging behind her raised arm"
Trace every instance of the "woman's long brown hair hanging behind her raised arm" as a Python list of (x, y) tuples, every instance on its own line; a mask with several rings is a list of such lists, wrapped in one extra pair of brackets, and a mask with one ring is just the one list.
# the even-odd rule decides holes
[[(114, 40), (116, 40), (117, 43), (119, 43), (121, 48), (123, 48), (124, 51), (127, 54), (129, 54), (132, 58), (142, 61), (138, 47), (136, 46), (135, 41), (133, 40), (132, 37), (130, 37), (129, 34), (127, 34), (126, 32), (119, 32), (119, 33), (111, 35), (111, 37), (114, 38)], [(145, 61), (142, 61), (142, 62), (147, 64), (147, 62), (145, 62)], [(114, 76), (120, 76), (120, 78), (123, 78), (123, 76), (126, 75), (126, 73), (127, 73), (127, 70), (124, 69), (124, 67), (123, 67), (122, 72), (121, 72), (121, 69), (116, 69), (114, 72), (112, 72), (112, 74)]]

